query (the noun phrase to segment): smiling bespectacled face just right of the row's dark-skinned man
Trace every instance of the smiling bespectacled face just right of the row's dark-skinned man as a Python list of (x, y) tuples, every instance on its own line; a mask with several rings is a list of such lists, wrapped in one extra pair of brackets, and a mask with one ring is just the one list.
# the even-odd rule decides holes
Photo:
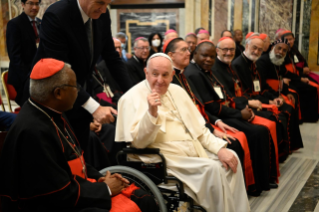
[(219, 59), (226, 64), (230, 64), (235, 57), (235, 42), (231, 39), (225, 39), (220, 42), (219, 47), (216, 49)]

